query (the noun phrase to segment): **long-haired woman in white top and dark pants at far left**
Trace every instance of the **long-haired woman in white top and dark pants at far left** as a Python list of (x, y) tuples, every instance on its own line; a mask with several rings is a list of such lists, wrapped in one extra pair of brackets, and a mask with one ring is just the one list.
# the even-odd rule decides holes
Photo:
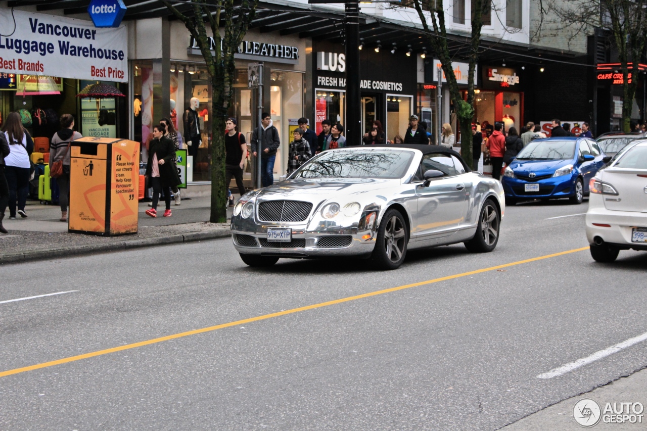
[(6, 116), (3, 130), (6, 142), (9, 144), (9, 154), (5, 157), (5, 177), (9, 188), (9, 218), (15, 220), (17, 213), (26, 219), (25, 205), (29, 194), (32, 166), (29, 156), (34, 151), (34, 140), (23, 127), (20, 114), (17, 112), (11, 112)]

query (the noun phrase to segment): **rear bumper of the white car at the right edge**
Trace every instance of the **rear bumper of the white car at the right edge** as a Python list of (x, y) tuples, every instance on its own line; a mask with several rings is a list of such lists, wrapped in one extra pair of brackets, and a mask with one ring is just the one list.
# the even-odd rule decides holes
[[(593, 194), (591, 194), (593, 195)], [(586, 239), (589, 244), (595, 243), (600, 237), (605, 243), (620, 249), (647, 250), (647, 244), (631, 242), (631, 229), (647, 228), (647, 214), (630, 211), (611, 211), (604, 206), (596, 206), (586, 213)], [(611, 225), (611, 227), (595, 226)]]

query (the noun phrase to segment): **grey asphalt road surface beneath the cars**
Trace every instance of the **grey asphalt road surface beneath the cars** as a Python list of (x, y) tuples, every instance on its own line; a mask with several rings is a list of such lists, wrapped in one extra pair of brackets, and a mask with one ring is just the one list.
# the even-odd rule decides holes
[(496, 430), (647, 366), (640, 342), (537, 377), (647, 331), (647, 253), (491, 269), (586, 247), (586, 206), (509, 207), (494, 252), (389, 272), (250, 269), (229, 239), (5, 265), (0, 430)]

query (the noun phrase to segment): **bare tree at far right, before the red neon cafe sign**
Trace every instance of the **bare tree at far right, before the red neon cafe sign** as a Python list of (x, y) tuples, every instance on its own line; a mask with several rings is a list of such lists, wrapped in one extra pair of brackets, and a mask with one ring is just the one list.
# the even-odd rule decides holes
[(631, 131), (638, 63), (647, 42), (647, 0), (551, 0), (549, 8), (571, 36), (589, 34), (594, 28), (611, 34), (622, 69), (622, 130)]

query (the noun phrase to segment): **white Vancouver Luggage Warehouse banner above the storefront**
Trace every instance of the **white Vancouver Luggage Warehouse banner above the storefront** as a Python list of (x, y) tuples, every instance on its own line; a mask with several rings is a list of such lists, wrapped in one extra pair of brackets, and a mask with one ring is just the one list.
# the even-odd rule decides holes
[(0, 73), (127, 82), (127, 30), (92, 21), (14, 10), (0, 12)]

